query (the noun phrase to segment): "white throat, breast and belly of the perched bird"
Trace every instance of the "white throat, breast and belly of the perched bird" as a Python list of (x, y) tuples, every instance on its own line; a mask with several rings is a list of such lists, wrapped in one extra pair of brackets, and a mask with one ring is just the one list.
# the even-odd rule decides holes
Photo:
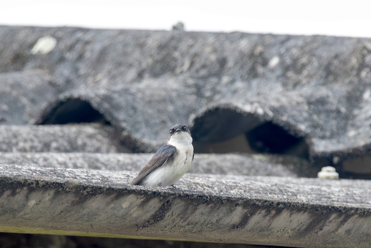
[(176, 183), (191, 167), (193, 159), (192, 137), (185, 132), (175, 133), (168, 144), (175, 146), (173, 159), (152, 171), (143, 181), (145, 186), (168, 187)]

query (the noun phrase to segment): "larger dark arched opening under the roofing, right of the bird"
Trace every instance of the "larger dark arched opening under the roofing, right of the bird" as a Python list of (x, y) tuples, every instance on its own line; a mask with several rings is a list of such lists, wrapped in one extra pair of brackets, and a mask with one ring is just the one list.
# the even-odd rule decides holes
[(239, 109), (215, 108), (196, 118), (191, 130), (196, 153), (275, 153), (308, 159), (305, 137)]

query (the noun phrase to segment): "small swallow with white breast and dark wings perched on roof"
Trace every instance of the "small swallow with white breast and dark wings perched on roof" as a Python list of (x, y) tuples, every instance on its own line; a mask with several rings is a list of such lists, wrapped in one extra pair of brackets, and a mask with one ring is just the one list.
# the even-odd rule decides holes
[(130, 184), (176, 188), (174, 184), (189, 170), (193, 158), (190, 130), (183, 124), (174, 125), (170, 128), (167, 141)]

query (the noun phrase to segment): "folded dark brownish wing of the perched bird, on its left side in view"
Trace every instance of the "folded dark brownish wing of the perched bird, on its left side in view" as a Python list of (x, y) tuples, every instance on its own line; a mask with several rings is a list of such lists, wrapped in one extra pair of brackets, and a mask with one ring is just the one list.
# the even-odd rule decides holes
[(141, 181), (151, 173), (154, 169), (161, 166), (166, 162), (174, 154), (175, 146), (171, 146), (168, 144), (163, 144), (158, 151), (156, 151), (155, 155), (153, 155), (152, 159), (145, 164), (143, 169), (139, 172), (138, 176), (134, 178), (134, 180), (130, 183), (131, 185), (140, 185)]

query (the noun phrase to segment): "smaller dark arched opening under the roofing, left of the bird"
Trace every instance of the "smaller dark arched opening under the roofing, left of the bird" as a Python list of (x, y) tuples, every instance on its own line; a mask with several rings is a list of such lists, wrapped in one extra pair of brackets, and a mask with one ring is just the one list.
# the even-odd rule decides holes
[(107, 123), (101, 113), (81, 99), (68, 99), (52, 109), (46, 109), (37, 124)]

